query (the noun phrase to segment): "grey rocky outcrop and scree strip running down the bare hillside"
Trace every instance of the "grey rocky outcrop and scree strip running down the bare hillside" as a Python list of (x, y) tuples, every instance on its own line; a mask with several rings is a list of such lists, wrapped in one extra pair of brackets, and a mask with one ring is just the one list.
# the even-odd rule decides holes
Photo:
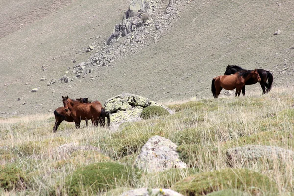
[[(108, 39), (92, 43), (96, 49), (90, 59), (84, 62), (92, 71), (98, 67), (114, 65), (114, 61), (126, 55), (135, 54), (145, 48), (164, 33), (171, 29), (171, 23), (177, 21), (179, 10), (185, 6), (184, 0), (131, 0), (122, 22), (116, 24)], [(139, 8), (139, 9), (138, 9)], [(99, 37), (99, 36), (98, 36)], [(88, 49), (86, 52), (90, 52)], [(73, 66), (73, 74), (80, 76), (80, 66)]]

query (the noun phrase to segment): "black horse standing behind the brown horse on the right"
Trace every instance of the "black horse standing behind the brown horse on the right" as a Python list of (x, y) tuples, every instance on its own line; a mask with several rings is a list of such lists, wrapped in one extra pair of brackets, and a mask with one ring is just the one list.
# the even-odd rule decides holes
[[(237, 66), (237, 65), (228, 65), (224, 75), (231, 75), (231, 74), (235, 74), (240, 71), (246, 71), (246, 70), (243, 69), (242, 67)], [(258, 72), (260, 79), (261, 79), (260, 86), (262, 88), (262, 94), (266, 94), (266, 93), (270, 92), (272, 82), (273, 82), (272, 73), (270, 71), (267, 71), (264, 69), (257, 69), (257, 72)], [(268, 82), (267, 82), (267, 80), (268, 80)], [(256, 79), (250, 78), (246, 82), (245, 85), (256, 84), (257, 82), (258, 81)], [(266, 89), (266, 87), (267, 87), (267, 89)], [(245, 96), (245, 86), (242, 88), (242, 94), (243, 94), (243, 96)]]

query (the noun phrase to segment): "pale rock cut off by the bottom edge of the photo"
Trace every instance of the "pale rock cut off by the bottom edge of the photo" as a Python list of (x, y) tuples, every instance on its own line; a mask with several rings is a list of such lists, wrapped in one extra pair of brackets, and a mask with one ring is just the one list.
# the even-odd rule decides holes
[(147, 188), (140, 188), (140, 189), (127, 191), (120, 196), (183, 196), (183, 195), (171, 189), (148, 190)]

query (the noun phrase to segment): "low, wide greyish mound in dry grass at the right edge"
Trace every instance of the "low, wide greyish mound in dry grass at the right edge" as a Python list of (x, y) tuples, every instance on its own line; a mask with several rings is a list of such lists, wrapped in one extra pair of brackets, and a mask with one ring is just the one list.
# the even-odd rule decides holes
[(255, 163), (257, 161), (293, 162), (294, 152), (281, 147), (246, 145), (228, 149), (226, 152), (230, 166), (240, 166), (244, 164)]

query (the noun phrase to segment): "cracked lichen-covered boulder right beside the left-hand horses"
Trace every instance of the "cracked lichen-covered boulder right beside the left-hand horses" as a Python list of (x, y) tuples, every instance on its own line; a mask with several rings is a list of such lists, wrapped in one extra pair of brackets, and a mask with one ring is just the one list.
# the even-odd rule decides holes
[(110, 128), (116, 130), (124, 122), (140, 121), (144, 108), (148, 106), (161, 106), (170, 114), (174, 112), (164, 105), (159, 105), (148, 98), (130, 93), (123, 93), (109, 98), (105, 102), (105, 109), (110, 113)]

